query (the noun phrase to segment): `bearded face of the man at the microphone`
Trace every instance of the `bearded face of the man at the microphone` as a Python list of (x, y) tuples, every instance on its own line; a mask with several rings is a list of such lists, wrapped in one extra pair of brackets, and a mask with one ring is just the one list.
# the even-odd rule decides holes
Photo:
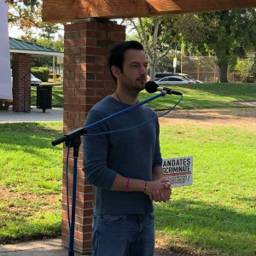
[(147, 81), (148, 61), (143, 50), (128, 49), (125, 51), (123, 73), (120, 73), (122, 87), (141, 91)]

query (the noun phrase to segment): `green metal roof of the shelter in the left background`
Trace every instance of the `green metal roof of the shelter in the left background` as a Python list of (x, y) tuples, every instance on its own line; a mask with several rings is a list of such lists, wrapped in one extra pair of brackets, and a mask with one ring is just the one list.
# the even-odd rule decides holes
[(63, 53), (59, 50), (50, 49), (38, 44), (32, 44), (15, 38), (9, 38), (9, 49), (11, 53), (63, 56)]

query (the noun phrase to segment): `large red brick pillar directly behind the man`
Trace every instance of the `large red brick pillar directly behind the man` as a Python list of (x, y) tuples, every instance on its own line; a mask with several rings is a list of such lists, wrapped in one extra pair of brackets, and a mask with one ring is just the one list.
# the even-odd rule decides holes
[[(125, 26), (100, 19), (76, 20), (65, 26), (64, 37), (64, 122), (63, 132), (73, 131), (84, 125), (90, 108), (112, 94), (116, 85), (108, 70), (108, 49), (125, 40)], [(77, 201), (74, 249), (79, 253), (91, 251), (91, 223), (93, 213), (93, 188), (86, 183), (82, 171), (82, 148), (79, 152)], [(67, 148), (64, 146), (62, 186), (62, 245), (67, 247)], [(68, 164), (69, 204), (72, 205), (73, 150)], [(71, 212), (71, 210), (70, 210)]]

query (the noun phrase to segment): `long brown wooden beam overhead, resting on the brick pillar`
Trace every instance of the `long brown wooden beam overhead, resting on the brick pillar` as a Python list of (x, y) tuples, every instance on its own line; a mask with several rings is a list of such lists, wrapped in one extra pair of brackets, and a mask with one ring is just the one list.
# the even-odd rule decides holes
[(132, 18), (256, 7), (256, 0), (44, 0), (43, 20)]

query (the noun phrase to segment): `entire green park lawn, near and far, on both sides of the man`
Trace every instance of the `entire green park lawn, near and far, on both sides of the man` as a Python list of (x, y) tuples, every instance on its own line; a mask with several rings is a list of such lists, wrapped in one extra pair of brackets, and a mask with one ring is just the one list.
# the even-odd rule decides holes
[[(240, 89), (236, 84), (173, 89), (183, 92), (178, 108), (184, 109), (235, 108), (236, 101), (256, 100), (255, 84), (240, 84)], [(141, 100), (148, 96), (140, 94)], [(166, 96), (150, 104), (171, 108), (178, 98)], [(256, 108), (244, 109), (255, 109), (256, 118)], [(0, 131), (0, 242), (59, 236), (62, 147), (51, 147), (50, 142), (61, 137), (62, 123), (0, 124)], [(155, 204), (160, 247), (201, 255), (254, 255), (255, 140), (251, 126), (229, 121), (191, 125), (160, 119), (163, 157), (194, 158), (193, 185), (175, 188), (168, 203)]]

